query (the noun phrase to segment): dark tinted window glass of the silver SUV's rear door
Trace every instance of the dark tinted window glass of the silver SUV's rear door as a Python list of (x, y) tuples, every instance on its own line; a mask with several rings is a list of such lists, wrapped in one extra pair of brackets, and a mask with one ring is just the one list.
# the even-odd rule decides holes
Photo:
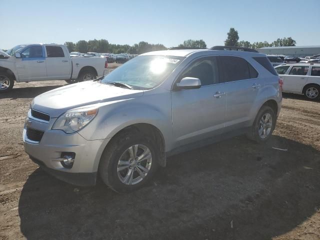
[(257, 71), (245, 59), (237, 56), (219, 56), (220, 82), (257, 77)]

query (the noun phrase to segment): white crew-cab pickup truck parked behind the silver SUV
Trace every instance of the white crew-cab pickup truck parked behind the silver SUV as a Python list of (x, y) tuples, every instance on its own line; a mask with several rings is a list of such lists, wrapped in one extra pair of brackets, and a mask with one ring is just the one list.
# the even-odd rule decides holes
[(70, 57), (65, 45), (25, 44), (0, 52), (0, 92), (16, 82), (65, 80), (68, 83), (107, 74), (104, 57)]

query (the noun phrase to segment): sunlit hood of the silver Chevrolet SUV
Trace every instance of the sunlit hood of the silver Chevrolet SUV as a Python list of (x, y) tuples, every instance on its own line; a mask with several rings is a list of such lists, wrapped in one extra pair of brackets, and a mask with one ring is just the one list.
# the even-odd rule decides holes
[(143, 95), (143, 90), (131, 90), (95, 81), (62, 86), (36, 96), (31, 107), (58, 117), (65, 111), (101, 102), (136, 98)]

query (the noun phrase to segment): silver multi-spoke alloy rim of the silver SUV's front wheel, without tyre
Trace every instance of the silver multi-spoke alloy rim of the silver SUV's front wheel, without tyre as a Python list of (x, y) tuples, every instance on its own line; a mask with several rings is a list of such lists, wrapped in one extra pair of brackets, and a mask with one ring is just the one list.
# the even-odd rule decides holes
[(128, 147), (117, 162), (117, 175), (126, 185), (134, 185), (142, 181), (148, 174), (152, 164), (150, 149), (142, 144)]

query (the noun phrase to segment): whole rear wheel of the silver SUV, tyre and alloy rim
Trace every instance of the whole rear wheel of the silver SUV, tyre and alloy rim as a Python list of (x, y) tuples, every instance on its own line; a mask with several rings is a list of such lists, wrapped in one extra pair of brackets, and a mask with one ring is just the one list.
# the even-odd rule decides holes
[(272, 135), (275, 122), (276, 115), (273, 109), (269, 106), (262, 106), (256, 114), (249, 132), (247, 132), (247, 137), (257, 143), (267, 141)]

